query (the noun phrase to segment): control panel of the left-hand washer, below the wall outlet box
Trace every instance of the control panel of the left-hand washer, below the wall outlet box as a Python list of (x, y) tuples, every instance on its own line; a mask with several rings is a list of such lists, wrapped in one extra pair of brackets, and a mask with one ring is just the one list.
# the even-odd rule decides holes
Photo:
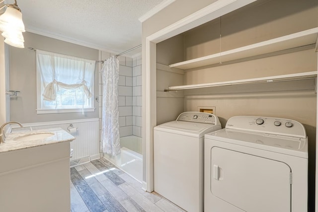
[(211, 113), (184, 112), (178, 116), (176, 121), (216, 124), (216, 120), (216, 116)]

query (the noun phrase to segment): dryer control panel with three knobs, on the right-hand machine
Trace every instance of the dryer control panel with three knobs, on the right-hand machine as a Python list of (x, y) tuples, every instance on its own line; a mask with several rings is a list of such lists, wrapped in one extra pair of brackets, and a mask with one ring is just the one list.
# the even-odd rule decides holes
[(234, 116), (228, 120), (226, 128), (306, 138), (306, 130), (301, 123), (284, 118)]

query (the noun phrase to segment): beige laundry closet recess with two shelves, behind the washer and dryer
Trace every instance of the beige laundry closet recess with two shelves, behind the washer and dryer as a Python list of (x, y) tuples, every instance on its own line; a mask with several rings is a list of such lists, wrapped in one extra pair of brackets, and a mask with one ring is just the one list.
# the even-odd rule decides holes
[(157, 43), (156, 125), (209, 109), (297, 120), (309, 137), (314, 207), (317, 113), (316, 0), (257, 0)]

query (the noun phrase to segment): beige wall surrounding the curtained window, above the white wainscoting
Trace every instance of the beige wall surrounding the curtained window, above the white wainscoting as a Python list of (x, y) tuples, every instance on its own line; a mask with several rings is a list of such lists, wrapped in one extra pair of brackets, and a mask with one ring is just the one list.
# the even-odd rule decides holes
[[(25, 48), (10, 47), (10, 89), (20, 91), (10, 99), (10, 120), (21, 123), (48, 122), (98, 118), (98, 102), (94, 101), (95, 111), (81, 113), (36, 114), (36, 52), (27, 47), (55, 52), (75, 57), (98, 60), (98, 50), (68, 42), (23, 33)], [(98, 65), (95, 68), (94, 95), (98, 96)]]

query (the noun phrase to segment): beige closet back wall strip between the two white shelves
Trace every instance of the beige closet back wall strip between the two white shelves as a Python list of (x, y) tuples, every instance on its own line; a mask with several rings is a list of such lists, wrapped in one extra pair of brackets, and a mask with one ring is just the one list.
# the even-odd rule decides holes
[(230, 80), (317, 71), (315, 49), (276, 55), (240, 63), (185, 71), (185, 84), (200, 84)]

